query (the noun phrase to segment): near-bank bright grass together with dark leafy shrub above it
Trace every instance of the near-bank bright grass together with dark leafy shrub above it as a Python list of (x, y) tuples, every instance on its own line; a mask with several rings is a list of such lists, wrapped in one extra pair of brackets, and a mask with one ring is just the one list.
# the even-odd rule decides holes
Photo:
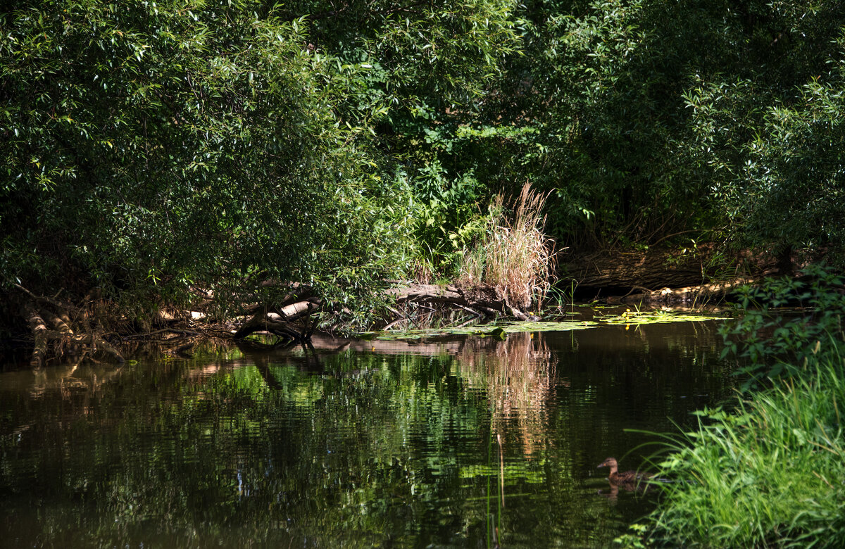
[[(811, 282), (772, 280), (740, 303), (726, 335), (766, 372), (769, 389), (737, 407), (702, 410), (699, 427), (669, 444), (662, 502), (650, 541), (672, 546), (845, 546), (845, 340), (842, 280), (806, 269)], [(803, 300), (806, 314), (784, 321), (771, 307)], [(775, 378), (775, 376), (781, 376)], [(624, 536), (635, 543), (643, 540)]]

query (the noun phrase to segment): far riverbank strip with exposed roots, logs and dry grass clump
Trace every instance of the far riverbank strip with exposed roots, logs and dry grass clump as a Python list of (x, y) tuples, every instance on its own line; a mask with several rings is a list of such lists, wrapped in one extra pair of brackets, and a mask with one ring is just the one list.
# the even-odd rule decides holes
[[(521, 226), (521, 232), (506, 224), (491, 230), (493, 235), (504, 232), (507, 238), (503, 236), (501, 241), (509, 242), (508, 246), (499, 242), (496, 253), (491, 253), (490, 258), (498, 258), (495, 269), (488, 258), (483, 268), (463, 271), (450, 284), (381, 280), (373, 284), (368, 298), (347, 306), (327, 300), (311, 286), (274, 279), (254, 282), (226, 297), (192, 285), (186, 301), (168, 303), (160, 298), (145, 305), (124, 303), (119, 296), (106, 297), (96, 288), (83, 296), (69, 292), (51, 296), (15, 285), (5, 292), (5, 307), (0, 307), (8, 313), (0, 331), (10, 334), (0, 357), (23, 360), (21, 350), (25, 349), (26, 361), (34, 368), (48, 361), (95, 355), (97, 360), (120, 362), (127, 344), (175, 346), (177, 353), (189, 353), (206, 338), (243, 340), (256, 332), (297, 344), (307, 342), (316, 329), (349, 333), (461, 326), (497, 319), (535, 321), (575, 301), (624, 303), (638, 309), (697, 308), (729, 301), (743, 285), (760, 284), (766, 274), (777, 272), (775, 258), (747, 254), (732, 258), (732, 269), (726, 270), (725, 265), (714, 269), (713, 249), (702, 245), (684, 253), (652, 249), (578, 256), (583, 261), (567, 256), (559, 272), (552, 274), (537, 267), (548, 267), (554, 258), (548, 255), (548, 242), (536, 230), (537, 221), (523, 221)], [(515, 233), (522, 236), (517, 238)], [(534, 245), (528, 246), (526, 241)], [(522, 269), (525, 264), (534, 264), (535, 269), (526, 272)], [(581, 270), (576, 272), (579, 264)], [(613, 276), (602, 278), (597, 269)], [(728, 276), (728, 271), (733, 274)], [(687, 285), (664, 285), (668, 283)], [(16, 349), (14, 357), (9, 351), (12, 348)]]

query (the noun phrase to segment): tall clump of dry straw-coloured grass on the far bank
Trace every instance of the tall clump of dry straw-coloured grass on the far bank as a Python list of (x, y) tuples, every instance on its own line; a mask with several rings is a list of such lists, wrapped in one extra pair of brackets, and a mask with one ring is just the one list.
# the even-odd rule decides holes
[(501, 194), (493, 198), (488, 230), (461, 264), (461, 285), (486, 284), (510, 307), (526, 310), (549, 290), (554, 241), (542, 229), (546, 197), (530, 183), (522, 188), (512, 220), (504, 215)]

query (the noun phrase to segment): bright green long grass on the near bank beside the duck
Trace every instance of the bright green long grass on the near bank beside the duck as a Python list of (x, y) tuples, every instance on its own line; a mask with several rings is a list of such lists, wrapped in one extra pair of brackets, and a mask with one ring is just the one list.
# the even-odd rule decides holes
[[(845, 375), (838, 352), (803, 379), (700, 412), (670, 446), (650, 541), (703, 547), (845, 546)], [(626, 536), (629, 537), (629, 536)], [(629, 540), (630, 541), (630, 540)]]

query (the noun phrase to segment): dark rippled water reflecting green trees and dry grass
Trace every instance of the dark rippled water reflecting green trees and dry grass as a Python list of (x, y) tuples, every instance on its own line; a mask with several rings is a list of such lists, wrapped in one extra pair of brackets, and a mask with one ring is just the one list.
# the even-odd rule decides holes
[(731, 392), (715, 322), (0, 373), (0, 546), (603, 547)]

